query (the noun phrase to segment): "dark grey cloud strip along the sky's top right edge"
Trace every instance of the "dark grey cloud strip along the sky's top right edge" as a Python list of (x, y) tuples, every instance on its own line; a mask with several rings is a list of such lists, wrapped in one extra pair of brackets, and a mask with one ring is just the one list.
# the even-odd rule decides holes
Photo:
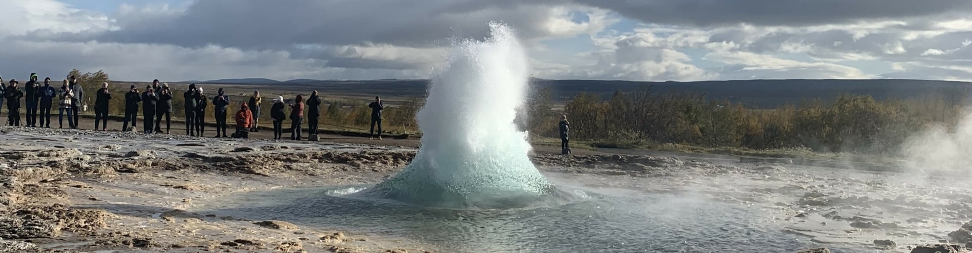
[(573, 0), (649, 23), (813, 25), (856, 20), (967, 17), (968, 0)]

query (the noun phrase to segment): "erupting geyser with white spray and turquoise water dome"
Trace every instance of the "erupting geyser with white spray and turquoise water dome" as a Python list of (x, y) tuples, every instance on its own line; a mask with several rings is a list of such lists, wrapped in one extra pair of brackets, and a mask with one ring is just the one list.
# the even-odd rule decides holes
[(530, 78), (513, 30), (456, 42), (418, 113), (424, 133), (412, 163), (364, 190), (369, 198), (440, 207), (511, 207), (546, 199), (554, 187), (530, 162), (526, 132), (514, 125)]

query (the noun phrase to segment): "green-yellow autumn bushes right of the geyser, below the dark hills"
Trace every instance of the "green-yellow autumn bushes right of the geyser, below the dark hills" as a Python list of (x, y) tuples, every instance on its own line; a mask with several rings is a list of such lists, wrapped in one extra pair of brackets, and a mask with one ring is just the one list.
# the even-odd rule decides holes
[(607, 100), (580, 93), (565, 113), (572, 137), (595, 147), (662, 149), (660, 143), (709, 153), (790, 150), (778, 152), (782, 155), (806, 149), (885, 155), (929, 125), (955, 126), (960, 110), (940, 97), (876, 101), (869, 95), (756, 110), (701, 94), (642, 90), (618, 91)]

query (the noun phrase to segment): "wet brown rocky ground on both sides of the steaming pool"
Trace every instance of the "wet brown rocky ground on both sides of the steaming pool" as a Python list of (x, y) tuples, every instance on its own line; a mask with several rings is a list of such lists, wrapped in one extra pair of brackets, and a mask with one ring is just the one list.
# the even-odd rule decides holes
[[(375, 183), (409, 163), (411, 148), (10, 127), (0, 127), (0, 143), (0, 252), (436, 251), (188, 211), (232, 194)], [(972, 186), (961, 177), (676, 157), (533, 160), (558, 184), (765, 209), (762, 222), (819, 247), (807, 252), (972, 247)]]

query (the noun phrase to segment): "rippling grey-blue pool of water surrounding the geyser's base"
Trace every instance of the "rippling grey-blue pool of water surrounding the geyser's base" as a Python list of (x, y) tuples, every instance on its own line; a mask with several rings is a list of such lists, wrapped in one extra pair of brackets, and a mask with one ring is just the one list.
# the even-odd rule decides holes
[(634, 198), (617, 190), (556, 206), (460, 210), (338, 197), (364, 187), (248, 193), (210, 207), (240, 218), (409, 238), (445, 252), (792, 252), (813, 246), (781, 233), (772, 214), (756, 207), (701, 199)]

